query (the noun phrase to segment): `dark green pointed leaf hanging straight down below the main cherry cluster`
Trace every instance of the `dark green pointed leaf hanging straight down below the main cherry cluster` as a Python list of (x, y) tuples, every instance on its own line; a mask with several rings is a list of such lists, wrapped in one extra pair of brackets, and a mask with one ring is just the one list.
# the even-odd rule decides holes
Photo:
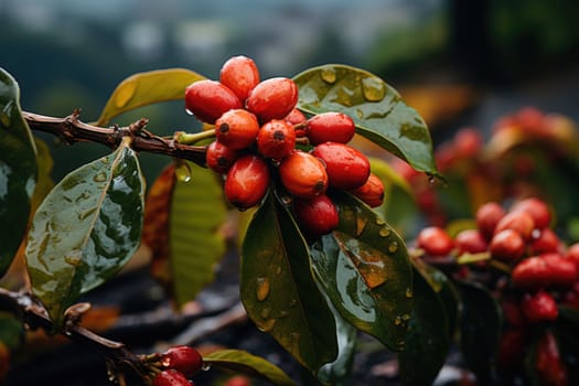
[(312, 374), (337, 354), (335, 324), (317, 287), (305, 242), (272, 194), (242, 251), (240, 296), (249, 318)]

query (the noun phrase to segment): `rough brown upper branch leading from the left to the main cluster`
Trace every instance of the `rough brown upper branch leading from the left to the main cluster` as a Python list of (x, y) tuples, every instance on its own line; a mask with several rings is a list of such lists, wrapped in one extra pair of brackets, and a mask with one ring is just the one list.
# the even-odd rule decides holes
[(85, 124), (78, 119), (78, 110), (67, 117), (56, 118), (39, 114), (22, 111), (22, 117), (30, 128), (36, 131), (52, 133), (63, 142), (73, 144), (81, 141), (103, 143), (109, 148), (116, 148), (122, 137), (132, 137), (131, 148), (135, 151), (164, 154), (173, 158), (192, 161), (196, 164), (205, 164), (205, 147), (190, 146), (156, 136), (144, 128), (148, 120), (141, 118), (127, 127), (103, 128)]

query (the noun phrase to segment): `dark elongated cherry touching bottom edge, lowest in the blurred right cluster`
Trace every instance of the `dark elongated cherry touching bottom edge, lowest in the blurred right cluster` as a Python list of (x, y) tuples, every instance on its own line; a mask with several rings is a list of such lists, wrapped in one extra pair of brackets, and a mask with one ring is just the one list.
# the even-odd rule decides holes
[(569, 384), (559, 345), (549, 330), (545, 331), (537, 343), (535, 368), (540, 385), (567, 386)]

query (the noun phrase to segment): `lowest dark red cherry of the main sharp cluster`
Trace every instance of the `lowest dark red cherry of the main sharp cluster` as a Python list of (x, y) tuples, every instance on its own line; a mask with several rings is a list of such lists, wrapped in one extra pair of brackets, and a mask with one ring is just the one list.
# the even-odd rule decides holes
[(312, 237), (334, 230), (340, 222), (334, 203), (325, 194), (312, 200), (294, 200), (293, 214), (300, 228)]

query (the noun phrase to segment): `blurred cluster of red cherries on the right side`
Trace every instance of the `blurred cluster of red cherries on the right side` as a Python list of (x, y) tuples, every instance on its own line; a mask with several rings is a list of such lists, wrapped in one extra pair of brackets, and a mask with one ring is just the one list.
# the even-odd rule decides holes
[[(498, 280), (493, 289), (505, 322), (497, 352), (503, 368), (523, 366), (533, 328), (556, 321), (559, 304), (579, 309), (579, 243), (566, 245), (551, 222), (549, 206), (536, 197), (518, 201), (506, 211), (489, 202), (476, 211), (476, 228), (451, 237), (446, 229), (430, 226), (417, 238), (417, 246), (435, 261), (487, 254), (510, 270), (507, 280)], [(549, 329), (544, 329), (535, 350), (538, 376), (548, 384), (565, 385), (565, 365)]]

